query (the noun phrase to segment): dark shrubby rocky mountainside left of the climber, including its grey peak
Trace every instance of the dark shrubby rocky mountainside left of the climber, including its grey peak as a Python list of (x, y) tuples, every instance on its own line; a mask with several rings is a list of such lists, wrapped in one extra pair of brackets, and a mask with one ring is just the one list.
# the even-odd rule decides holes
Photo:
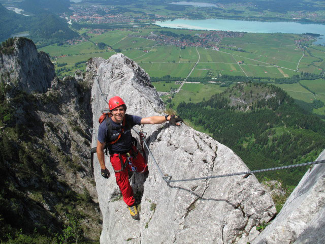
[(101, 215), (89, 167), (92, 83), (54, 78), (47, 54), (37, 53), (28, 39), (16, 39), (13, 54), (1, 55), (2, 78), (8, 67), (17, 68), (0, 82), (6, 113), (0, 120), (0, 190), (9, 199), (1, 199), (3, 234), (35, 228), (54, 236), (74, 215), (83, 235), (98, 239)]

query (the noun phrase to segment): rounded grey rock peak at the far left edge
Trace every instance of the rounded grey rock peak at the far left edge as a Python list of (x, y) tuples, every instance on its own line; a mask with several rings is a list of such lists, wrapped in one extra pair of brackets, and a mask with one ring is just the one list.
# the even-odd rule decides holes
[(0, 74), (1, 81), (28, 94), (45, 93), (55, 77), (49, 56), (27, 38), (16, 38), (10, 53), (0, 52)]

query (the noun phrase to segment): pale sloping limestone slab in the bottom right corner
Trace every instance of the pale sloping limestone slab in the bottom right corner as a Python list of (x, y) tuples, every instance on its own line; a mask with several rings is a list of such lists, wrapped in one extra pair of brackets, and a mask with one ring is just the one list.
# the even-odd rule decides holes
[[(317, 160), (325, 159), (325, 150)], [(252, 243), (325, 243), (325, 164), (300, 180), (275, 220)]]

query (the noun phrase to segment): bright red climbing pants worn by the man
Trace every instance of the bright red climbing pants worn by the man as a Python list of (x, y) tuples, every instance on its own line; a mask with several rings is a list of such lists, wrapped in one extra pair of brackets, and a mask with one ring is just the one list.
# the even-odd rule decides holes
[[(133, 150), (138, 151), (135, 146), (133, 147)], [(124, 164), (125, 161), (127, 160), (127, 155), (120, 154), (120, 157)], [(113, 166), (113, 169), (115, 171), (120, 170), (121, 160), (118, 154), (111, 154), (110, 159), (111, 159), (111, 164)], [(136, 157), (133, 157), (133, 165), (137, 167), (137, 172), (148, 171), (148, 167), (146, 166), (146, 161), (140, 152), (138, 152), (138, 155)], [(127, 163), (125, 164), (124, 170), (115, 172), (115, 178), (116, 178), (116, 184), (118, 185), (122, 193), (123, 201), (126, 203), (127, 206), (132, 206), (135, 203), (135, 199), (134, 199), (134, 193), (132, 187), (130, 186), (128, 181), (128, 171), (132, 171), (132, 169), (131, 169), (131, 165)]]

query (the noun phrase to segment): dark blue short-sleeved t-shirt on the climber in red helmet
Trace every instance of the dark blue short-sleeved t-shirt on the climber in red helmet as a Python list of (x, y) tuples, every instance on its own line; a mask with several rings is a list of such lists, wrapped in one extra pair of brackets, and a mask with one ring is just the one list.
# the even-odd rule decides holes
[[(121, 128), (120, 124), (116, 124), (112, 117), (109, 118), (112, 123), (113, 133), (111, 138), (107, 138), (107, 125), (106, 121), (104, 120), (98, 129), (98, 140), (101, 143), (105, 143), (108, 141), (114, 141), (117, 139), (119, 135), (119, 130)], [(109, 145), (109, 150), (113, 152), (119, 153), (127, 153), (132, 147), (132, 134), (131, 129), (135, 125), (141, 124), (142, 117), (136, 115), (125, 114), (126, 125), (124, 128), (124, 133), (121, 135), (120, 139), (114, 143), (113, 145)]]

